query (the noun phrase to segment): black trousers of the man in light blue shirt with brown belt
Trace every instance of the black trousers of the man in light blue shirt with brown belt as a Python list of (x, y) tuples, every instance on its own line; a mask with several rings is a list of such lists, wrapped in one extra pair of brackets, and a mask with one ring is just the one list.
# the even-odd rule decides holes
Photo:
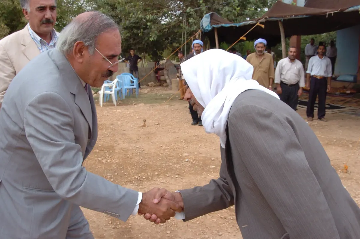
[(318, 119), (325, 117), (325, 104), (326, 104), (326, 95), (328, 89), (327, 79), (321, 78), (310, 78), (310, 91), (309, 91), (309, 101), (307, 102), (306, 115), (308, 118), (314, 118), (314, 106), (316, 101), (316, 96), (319, 97), (318, 104)]

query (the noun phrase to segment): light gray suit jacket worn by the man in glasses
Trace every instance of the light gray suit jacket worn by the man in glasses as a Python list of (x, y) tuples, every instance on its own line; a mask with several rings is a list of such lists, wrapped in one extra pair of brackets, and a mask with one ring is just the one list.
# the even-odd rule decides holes
[(82, 166), (98, 135), (95, 103), (59, 51), (40, 54), (14, 77), (0, 135), (1, 239), (64, 239), (84, 224), (78, 206), (123, 221), (134, 210), (138, 192)]

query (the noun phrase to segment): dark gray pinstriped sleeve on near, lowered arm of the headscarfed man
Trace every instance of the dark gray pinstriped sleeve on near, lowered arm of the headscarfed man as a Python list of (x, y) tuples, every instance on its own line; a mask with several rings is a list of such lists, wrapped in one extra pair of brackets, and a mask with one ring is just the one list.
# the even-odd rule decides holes
[[(287, 121), (258, 106), (229, 117), (231, 148), (290, 238), (339, 238), (322, 189)], [(234, 171), (236, 169), (234, 162)]]

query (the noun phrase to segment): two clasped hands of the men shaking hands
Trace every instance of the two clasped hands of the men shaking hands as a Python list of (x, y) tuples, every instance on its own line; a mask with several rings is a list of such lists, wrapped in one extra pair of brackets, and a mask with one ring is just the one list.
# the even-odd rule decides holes
[(183, 197), (181, 193), (171, 193), (166, 189), (153, 188), (143, 193), (139, 203), (139, 215), (154, 224), (165, 223), (175, 216), (175, 212), (184, 211)]

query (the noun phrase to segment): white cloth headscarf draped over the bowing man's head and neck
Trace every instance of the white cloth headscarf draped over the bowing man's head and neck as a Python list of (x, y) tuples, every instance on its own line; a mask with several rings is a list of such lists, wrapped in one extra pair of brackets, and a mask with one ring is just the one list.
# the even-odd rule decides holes
[(180, 66), (196, 100), (205, 108), (201, 116), (205, 131), (218, 135), (223, 148), (230, 108), (239, 94), (248, 89), (258, 89), (279, 98), (275, 92), (251, 79), (251, 64), (224, 50), (204, 51)]

